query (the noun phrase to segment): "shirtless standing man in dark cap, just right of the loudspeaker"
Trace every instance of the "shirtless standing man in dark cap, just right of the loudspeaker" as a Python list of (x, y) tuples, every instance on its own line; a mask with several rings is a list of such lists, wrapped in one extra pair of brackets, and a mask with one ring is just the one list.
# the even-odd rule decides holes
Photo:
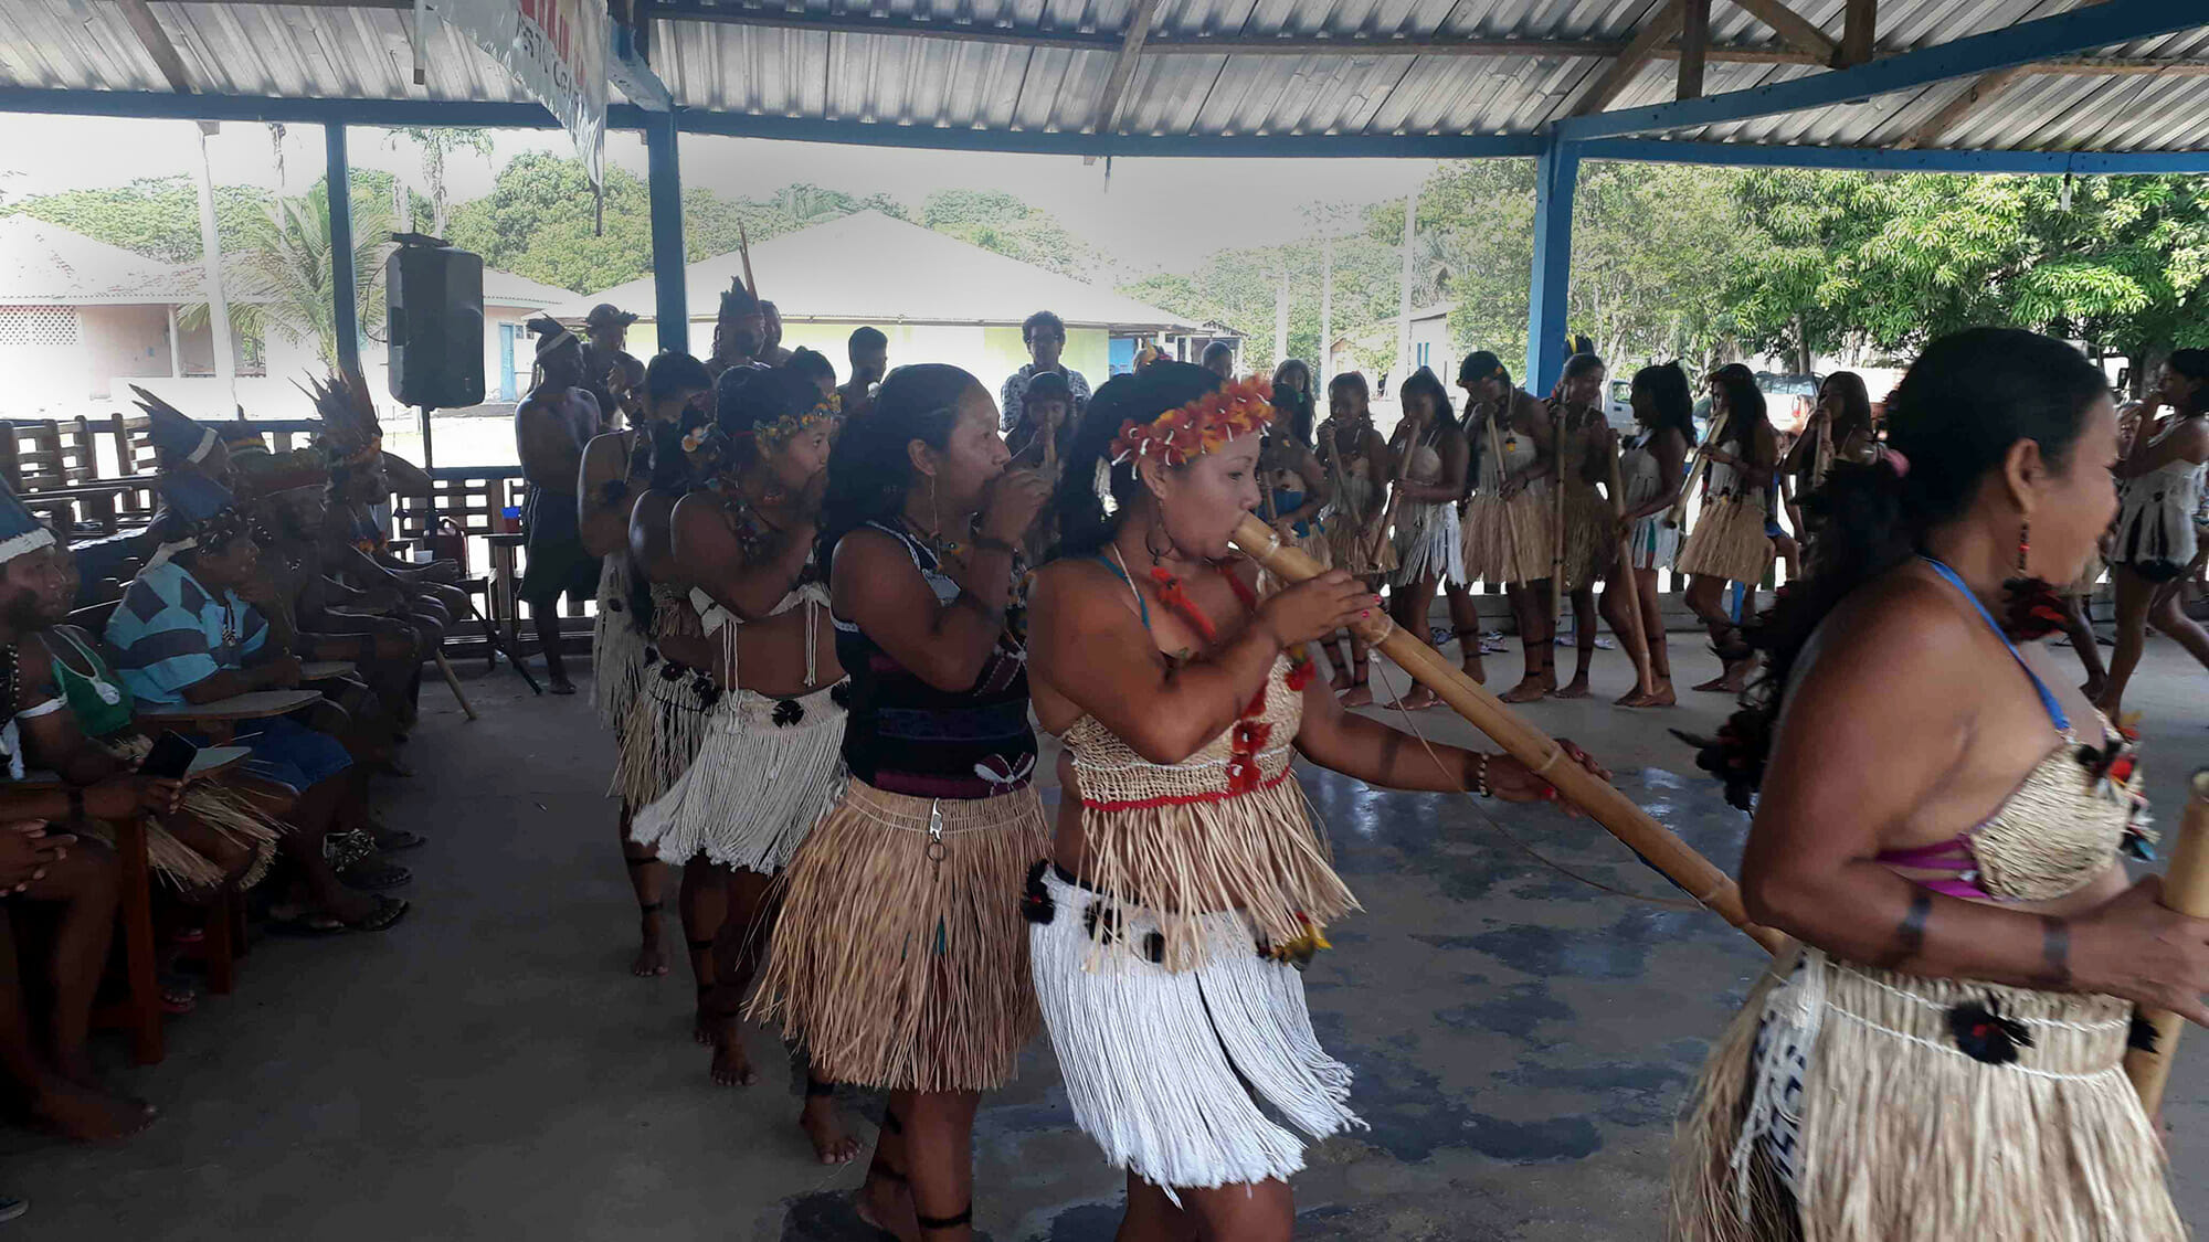
[(583, 548), (581, 508), (574, 495), (583, 471), (583, 446), (605, 431), (599, 398), (583, 387), (583, 343), (550, 318), (530, 320), (539, 334), (539, 385), (515, 409), (515, 442), (521, 451), (521, 533), (528, 566), (521, 570), (521, 601), (537, 621), (537, 645), (546, 654), (552, 694), (574, 694), (568, 665), (559, 656), (559, 597), (579, 603), (599, 592), (603, 564)]

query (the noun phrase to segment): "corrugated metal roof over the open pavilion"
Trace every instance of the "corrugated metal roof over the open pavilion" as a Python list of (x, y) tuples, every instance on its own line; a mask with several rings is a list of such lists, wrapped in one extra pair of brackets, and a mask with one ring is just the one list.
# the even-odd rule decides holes
[[(1911, 51), (2052, 15), (2081, 0), (1882, 0), (1878, 51)], [(155, 2), (190, 80), (214, 93), (281, 97), (519, 99), (499, 66), (431, 20), (413, 46), (391, 4)], [(1138, 0), (669, 0), (654, 69), (678, 104), (758, 117), (1091, 133), (1120, 35)], [(1127, 135), (1524, 135), (1571, 115), (1661, 0), (1162, 0), (1151, 49), (1120, 110)], [(1791, 0), (1829, 38), (1845, 0)], [(667, 18), (665, 11), (678, 15)], [(711, 20), (707, 20), (711, 18)], [(2209, 20), (2209, 15), (2205, 15)], [(926, 24), (939, 38), (868, 24)], [(1018, 40), (1007, 31), (1040, 31)], [(963, 38), (961, 38), (963, 35)], [(974, 38), (979, 35), (979, 38)], [(1299, 46), (1208, 51), (1193, 40), (1542, 40), (1491, 53)], [(1712, 11), (1705, 91), (1785, 82), (1820, 69), (1736, 4)], [(1763, 62), (1741, 60), (1745, 53)], [(2101, 55), (2209, 60), (2209, 29), (2136, 40)], [(426, 84), (411, 75), (420, 57)], [(1635, 73), (1613, 108), (1672, 97), (1674, 60)], [(0, 84), (166, 91), (152, 57), (108, 0), (0, 7)], [(1970, 80), (1862, 104), (1758, 117), (1670, 137), (1891, 146)], [(2030, 150), (2185, 150), (2209, 133), (2209, 73), (2023, 73), (1928, 146)]]

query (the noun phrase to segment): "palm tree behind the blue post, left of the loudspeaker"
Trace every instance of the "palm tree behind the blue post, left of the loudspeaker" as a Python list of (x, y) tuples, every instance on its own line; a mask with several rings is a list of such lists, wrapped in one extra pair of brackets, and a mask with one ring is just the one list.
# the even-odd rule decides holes
[[(391, 212), (371, 194), (353, 197), (353, 314), (360, 336), (380, 340), (384, 323), (384, 254), (391, 252)], [(329, 188), (316, 183), (296, 199), (278, 199), (256, 219), (234, 263), (230, 290), (239, 298), (230, 323), (241, 340), (267, 340), (269, 327), (289, 336), (314, 334), (323, 362), (338, 365), (336, 298), (331, 294)], [(208, 305), (186, 307), (186, 327), (208, 318)]]

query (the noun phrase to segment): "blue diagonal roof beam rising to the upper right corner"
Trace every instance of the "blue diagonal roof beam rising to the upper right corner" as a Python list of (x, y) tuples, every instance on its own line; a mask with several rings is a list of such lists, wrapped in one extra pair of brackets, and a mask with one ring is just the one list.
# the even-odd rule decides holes
[(2076, 55), (2090, 49), (2147, 40), (2209, 24), (2200, 0), (2105, 0), (2090, 9), (2019, 22), (2001, 31), (1968, 35), (1869, 64), (1816, 73), (1754, 91), (1727, 91), (1701, 99), (1677, 99), (1648, 108), (1619, 108), (1593, 117), (1564, 117), (1551, 124), (1562, 141), (1586, 141), (1648, 130), (1714, 126), (1745, 122), (1774, 113), (1825, 108), (1849, 99), (1869, 99), (1895, 91), (1915, 91), (1951, 77), (1970, 77)]

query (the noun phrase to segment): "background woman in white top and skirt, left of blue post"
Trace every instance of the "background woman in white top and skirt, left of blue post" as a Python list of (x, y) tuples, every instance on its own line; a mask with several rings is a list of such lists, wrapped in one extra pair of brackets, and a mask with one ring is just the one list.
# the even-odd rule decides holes
[[(1458, 495), (1465, 493), (1465, 429), (1449, 407), (1449, 391), (1434, 371), (1420, 367), (1396, 389), (1403, 422), (1389, 438), (1396, 464), (1396, 575), (1387, 588), (1387, 612), (1401, 630), (1429, 641), (1427, 610), (1434, 588), (1465, 583), (1465, 530), (1458, 524)], [(1473, 639), (1473, 652), (1480, 639)], [(1405, 709), (1420, 712), (1440, 698), (1425, 685), (1414, 685)]]

